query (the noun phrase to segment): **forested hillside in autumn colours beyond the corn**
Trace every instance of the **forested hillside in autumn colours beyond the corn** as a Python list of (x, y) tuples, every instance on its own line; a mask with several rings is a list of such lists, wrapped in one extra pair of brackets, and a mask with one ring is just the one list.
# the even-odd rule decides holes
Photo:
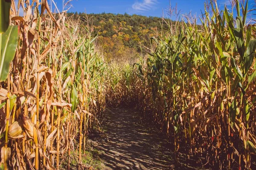
[[(69, 13), (76, 20), (84, 20), (85, 13)], [(163, 22), (160, 17), (146, 17), (129, 14), (88, 14), (91, 17), (90, 24), (93, 24), (93, 34), (98, 34), (97, 43), (105, 54), (105, 59), (109, 61), (134, 62), (137, 54), (145, 52), (146, 47), (150, 47), (150, 37), (161, 34), (161, 28), (168, 29), (168, 22)], [(165, 29), (163, 29), (165, 30)]]

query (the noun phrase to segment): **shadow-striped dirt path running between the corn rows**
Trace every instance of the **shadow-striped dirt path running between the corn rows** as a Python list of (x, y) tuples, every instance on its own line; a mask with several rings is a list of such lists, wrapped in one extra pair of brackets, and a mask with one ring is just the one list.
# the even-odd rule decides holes
[(139, 114), (131, 109), (108, 109), (102, 126), (104, 137), (94, 137), (93, 148), (105, 170), (171, 170), (175, 168), (174, 154), (166, 143), (148, 127), (141, 124)]

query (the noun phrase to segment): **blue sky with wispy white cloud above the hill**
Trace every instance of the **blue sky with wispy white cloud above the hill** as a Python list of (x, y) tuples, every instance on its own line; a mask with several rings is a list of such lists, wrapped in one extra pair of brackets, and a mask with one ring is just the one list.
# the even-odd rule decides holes
[[(49, 0), (48, 0), (49, 1)], [(58, 8), (62, 9), (62, 0), (54, 0)], [(171, 0), (171, 5), (177, 3), (178, 10), (182, 14), (201, 14), (204, 10), (205, 0)], [(217, 0), (218, 5), (223, 8), (225, 4), (230, 5), (230, 0)], [(253, 7), (254, 0), (249, 0), (249, 8)], [(73, 0), (73, 7), (69, 11), (87, 13), (114, 13), (114, 14), (141, 14), (145, 16), (161, 17), (163, 11), (169, 7), (169, 0)], [(254, 12), (255, 14), (256, 12)]]

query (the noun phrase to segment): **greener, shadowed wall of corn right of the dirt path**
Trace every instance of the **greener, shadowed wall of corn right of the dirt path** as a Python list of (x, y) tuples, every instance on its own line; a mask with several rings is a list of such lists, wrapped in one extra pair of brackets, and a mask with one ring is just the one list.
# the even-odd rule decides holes
[(250, 169), (256, 153), (256, 25), (246, 25), (248, 1), (236, 1), (236, 17), (227, 7), (219, 11), (216, 1), (210, 6), (201, 28), (184, 17), (151, 38), (156, 48), (134, 65), (137, 103), (174, 144), (175, 161), (182, 150), (216, 169)]

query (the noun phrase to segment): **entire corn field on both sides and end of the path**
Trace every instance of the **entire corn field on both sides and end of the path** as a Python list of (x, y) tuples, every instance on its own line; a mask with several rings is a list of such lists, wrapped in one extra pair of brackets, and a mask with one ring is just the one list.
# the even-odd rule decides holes
[(14, 31), (1, 28), (0, 42), (7, 33), (16, 42), (7, 48), (14, 59), (4, 60), (10, 68), (0, 70), (0, 169), (58, 170), (65, 159), (70, 169), (74, 150), (76, 168), (86, 168), (90, 129), (100, 127), (106, 107), (120, 105), (135, 106), (166, 134), (176, 163), (186, 153), (215, 169), (250, 169), (256, 25), (247, 24), (248, 1), (236, 0), (235, 12), (211, 1), (200, 26), (186, 16), (175, 24), (163, 19), (169, 29), (149, 40), (150, 51), (134, 65), (106, 63), (93, 27), (53, 13), (47, 0), (0, 4), (11, 8), (0, 24)]

